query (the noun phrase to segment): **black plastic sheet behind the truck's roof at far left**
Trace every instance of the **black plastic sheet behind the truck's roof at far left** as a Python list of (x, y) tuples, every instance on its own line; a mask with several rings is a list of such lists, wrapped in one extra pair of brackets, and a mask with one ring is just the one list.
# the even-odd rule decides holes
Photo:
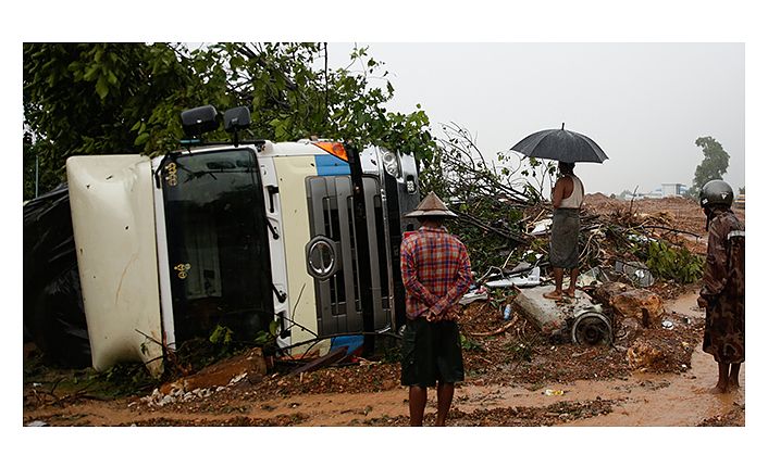
[(24, 205), (24, 329), (49, 363), (90, 365), (66, 185)]

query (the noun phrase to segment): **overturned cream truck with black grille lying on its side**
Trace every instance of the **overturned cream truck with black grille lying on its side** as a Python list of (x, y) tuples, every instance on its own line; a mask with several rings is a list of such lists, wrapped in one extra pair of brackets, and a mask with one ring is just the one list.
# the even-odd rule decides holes
[[(272, 329), (294, 354), (405, 321), (399, 244), (416, 228), (401, 216), (420, 199), (414, 159), (240, 140), (246, 107), (223, 113), (232, 141), (203, 142), (221, 119), (210, 105), (185, 111), (188, 139), (164, 156), (66, 162), (78, 273), (69, 292), (82, 298), (97, 370), (141, 361), (160, 375), (169, 351), (218, 326), (241, 340)], [(51, 305), (25, 301), (25, 330), (49, 343)]]

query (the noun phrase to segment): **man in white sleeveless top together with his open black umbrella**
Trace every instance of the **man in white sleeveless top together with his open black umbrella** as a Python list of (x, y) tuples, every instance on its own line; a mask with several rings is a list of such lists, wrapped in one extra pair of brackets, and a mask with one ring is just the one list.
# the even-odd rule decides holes
[(566, 295), (575, 295), (579, 276), (579, 210), (584, 201), (584, 186), (573, 174), (577, 162), (603, 163), (608, 156), (590, 137), (561, 128), (536, 131), (523, 138), (512, 151), (529, 157), (558, 161), (560, 177), (552, 193), (555, 208), (549, 241), (549, 262), (555, 276), (555, 290), (545, 293), (547, 299), (562, 299), (562, 276), (570, 271), (571, 283)]

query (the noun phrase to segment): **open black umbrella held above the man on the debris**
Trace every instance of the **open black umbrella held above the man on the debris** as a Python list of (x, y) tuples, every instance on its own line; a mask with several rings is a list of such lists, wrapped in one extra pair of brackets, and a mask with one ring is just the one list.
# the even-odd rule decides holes
[(537, 160), (555, 160), (563, 163), (602, 163), (605, 152), (587, 136), (562, 128), (541, 130), (523, 138), (512, 151)]

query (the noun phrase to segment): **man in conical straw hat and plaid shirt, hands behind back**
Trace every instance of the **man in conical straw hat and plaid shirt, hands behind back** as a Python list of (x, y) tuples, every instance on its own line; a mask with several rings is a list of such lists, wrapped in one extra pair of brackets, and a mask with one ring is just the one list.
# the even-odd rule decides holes
[(400, 245), (400, 270), (406, 288), (408, 321), (402, 333), (400, 382), (409, 387), (411, 426), (422, 426), (426, 388), (437, 387), (435, 426), (445, 426), (454, 384), (464, 378), (459, 327), (459, 300), (472, 281), (469, 255), (443, 222), (457, 217), (430, 192), (406, 216), (421, 228)]

